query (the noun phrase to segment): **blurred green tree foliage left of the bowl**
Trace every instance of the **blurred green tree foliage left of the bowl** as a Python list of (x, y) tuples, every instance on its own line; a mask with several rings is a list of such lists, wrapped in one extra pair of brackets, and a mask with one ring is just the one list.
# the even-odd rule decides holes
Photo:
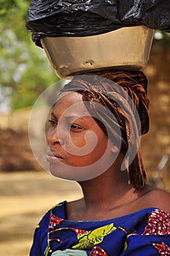
[(26, 30), (28, 0), (0, 0), (0, 109), (33, 105), (58, 78)]

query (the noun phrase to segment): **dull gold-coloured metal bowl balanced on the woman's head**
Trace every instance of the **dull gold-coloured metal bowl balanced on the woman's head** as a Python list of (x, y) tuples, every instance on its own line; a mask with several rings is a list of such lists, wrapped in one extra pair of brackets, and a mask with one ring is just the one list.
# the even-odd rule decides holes
[(142, 69), (153, 33), (146, 26), (132, 26), (91, 37), (44, 37), (41, 43), (56, 74), (66, 78), (100, 69)]

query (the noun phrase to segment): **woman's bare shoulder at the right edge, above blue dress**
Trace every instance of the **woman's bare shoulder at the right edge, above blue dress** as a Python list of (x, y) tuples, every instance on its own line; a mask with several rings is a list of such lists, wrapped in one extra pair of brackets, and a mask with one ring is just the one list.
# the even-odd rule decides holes
[(153, 188), (144, 197), (147, 207), (161, 208), (170, 214), (170, 193), (162, 189)]

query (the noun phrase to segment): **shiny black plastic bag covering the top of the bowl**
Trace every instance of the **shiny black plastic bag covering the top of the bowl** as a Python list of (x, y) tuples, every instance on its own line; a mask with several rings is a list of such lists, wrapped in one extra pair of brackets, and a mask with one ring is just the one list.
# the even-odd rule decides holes
[(26, 27), (42, 37), (87, 37), (124, 26), (170, 32), (170, 0), (32, 0)]

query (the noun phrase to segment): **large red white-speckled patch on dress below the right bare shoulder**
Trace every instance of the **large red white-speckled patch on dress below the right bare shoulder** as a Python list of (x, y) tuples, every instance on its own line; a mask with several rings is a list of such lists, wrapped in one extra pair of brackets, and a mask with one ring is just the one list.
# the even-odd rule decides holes
[(155, 209), (149, 216), (142, 235), (164, 236), (170, 234), (170, 215), (161, 209)]

